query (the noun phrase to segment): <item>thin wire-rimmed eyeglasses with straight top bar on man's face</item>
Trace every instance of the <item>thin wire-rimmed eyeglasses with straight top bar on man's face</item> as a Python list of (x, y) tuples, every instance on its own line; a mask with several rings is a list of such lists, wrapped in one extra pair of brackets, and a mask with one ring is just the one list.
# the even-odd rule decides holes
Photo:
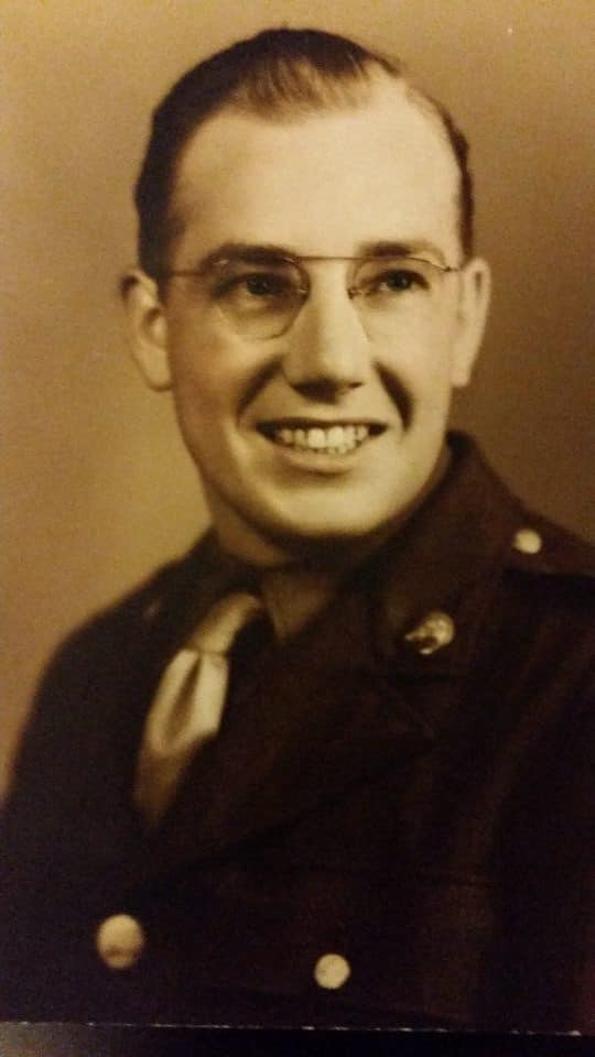
[(391, 335), (428, 310), (447, 274), (461, 268), (418, 257), (220, 258), (199, 270), (163, 271), (158, 280), (191, 279), (191, 294), (219, 310), (237, 334), (267, 340), (284, 334), (311, 293), (306, 263), (346, 261), (354, 265), (346, 288), (368, 336)]

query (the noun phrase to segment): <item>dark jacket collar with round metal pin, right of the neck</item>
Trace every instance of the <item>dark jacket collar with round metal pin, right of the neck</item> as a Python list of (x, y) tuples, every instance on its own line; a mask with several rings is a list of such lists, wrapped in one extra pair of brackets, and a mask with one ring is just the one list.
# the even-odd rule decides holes
[(518, 502), (476, 443), (452, 433), (448, 444), (447, 475), (375, 564), (379, 655), (429, 674), (466, 666), (519, 525)]

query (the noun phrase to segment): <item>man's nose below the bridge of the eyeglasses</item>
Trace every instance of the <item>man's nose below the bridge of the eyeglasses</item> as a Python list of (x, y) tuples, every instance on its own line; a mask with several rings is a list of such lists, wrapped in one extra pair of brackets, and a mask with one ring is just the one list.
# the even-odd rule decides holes
[(337, 395), (365, 384), (369, 341), (344, 282), (325, 276), (284, 335), (282, 372), (290, 385), (313, 399)]

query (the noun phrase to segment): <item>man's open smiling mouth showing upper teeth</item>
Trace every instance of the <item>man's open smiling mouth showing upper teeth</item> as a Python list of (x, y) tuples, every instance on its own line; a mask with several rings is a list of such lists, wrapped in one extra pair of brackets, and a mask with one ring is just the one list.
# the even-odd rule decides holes
[(348, 455), (385, 429), (386, 426), (377, 422), (325, 423), (305, 418), (284, 418), (258, 425), (258, 432), (273, 444), (316, 455)]

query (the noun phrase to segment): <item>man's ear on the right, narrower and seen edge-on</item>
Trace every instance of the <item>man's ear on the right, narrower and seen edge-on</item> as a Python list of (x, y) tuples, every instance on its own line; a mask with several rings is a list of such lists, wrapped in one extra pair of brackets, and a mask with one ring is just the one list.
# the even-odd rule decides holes
[(455, 389), (468, 384), (486, 326), (491, 273), (479, 257), (472, 258), (459, 275), (458, 320), (451, 381)]

